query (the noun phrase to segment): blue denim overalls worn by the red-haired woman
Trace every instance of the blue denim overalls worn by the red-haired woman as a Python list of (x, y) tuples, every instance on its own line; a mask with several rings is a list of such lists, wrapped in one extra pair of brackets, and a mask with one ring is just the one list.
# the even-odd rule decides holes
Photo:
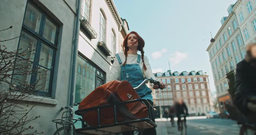
[[(137, 87), (139, 84), (141, 84), (141, 82), (143, 81), (143, 79), (141, 78), (144, 78), (141, 67), (139, 65), (141, 61), (141, 55), (138, 55), (138, 64), (125, 64), (125, 66), (122, 65), (122, 61), (119, 55), (116, 54), (115, 56), (118, 59), (119, 64), (121, 65), (121, 80), (128, 80), (129, 83), (136, 80), (131, 84), (132, 87)], [(146, 84), (139, 87), (136, 92), (141, 98), (151, 100), (153, 102), (153, 97), (151, 95), (152, 90)]]

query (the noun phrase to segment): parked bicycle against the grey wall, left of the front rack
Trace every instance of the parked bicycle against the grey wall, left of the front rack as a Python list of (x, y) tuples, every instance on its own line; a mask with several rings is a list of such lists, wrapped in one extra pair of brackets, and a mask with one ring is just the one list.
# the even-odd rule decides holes
[[(73, 104), (73, 106), (78, 106), (78, 105), (79, 105), (79, 103), (74, 103)], [(73, 116), (74, 116), (73, 115), (73, 108), (72, 108), (73, 106), (62, 107), (59, 110), (59, 112), (61, 112), (64, 109), (67, 109), (67, 111), (62, 113), (61, 119), (52, 120), (52, 122), (56, 123), (56, 129), (57, 129), (56, 132), (53, 133), (53, 135), (70, 135), (71, 132), (73, 132), (73, 135), (78, 135), (75, 132), (75, 125), (74, 124), (78, 121), (81, 121), (82, 125), (84, 125), (84, 124), (83, 124), (83, 121), (82, 121), (81, 118), (79, 118), (79, 119), (74, 119), (73, 118)], [(60, 125), (61, 127), (58, 128), (58, 125)]]

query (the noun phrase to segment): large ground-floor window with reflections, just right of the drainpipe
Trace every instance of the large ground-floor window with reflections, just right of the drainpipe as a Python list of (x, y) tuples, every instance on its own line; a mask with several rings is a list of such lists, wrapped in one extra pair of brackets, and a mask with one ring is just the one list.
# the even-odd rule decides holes
[[(77, 86), (75, 87), (75, 103), (81, 102), (84, 97), (88, 96), (92, 92), (92, 90), (94, 90), (97, 86), (101, 85), (101, 82), (105, 83), (104, 77), (98, 79), (98, 75), (100, 76), (102, 72), (96, 70), (95, 67), (93, 67), (88, 61), (80, 56), (77, 57), (77, 67), (78, 71), (76, 73), (75, 82), (75, 85)], [(83, 69), (84, 75), (79, 74), (79, 68)]]

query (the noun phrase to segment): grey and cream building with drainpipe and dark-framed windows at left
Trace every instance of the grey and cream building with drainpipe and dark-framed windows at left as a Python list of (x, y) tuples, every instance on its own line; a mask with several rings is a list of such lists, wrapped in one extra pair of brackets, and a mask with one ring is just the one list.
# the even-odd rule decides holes
[[(81, 9), (80, 13), (77, 8)], [(74, 102), (78, 103), (105, 83), (112, 66), (111, 58), (121, 51), (120, 42), (128, 33), (128, 23), (118, 15), (113, 0), (2, 0), (0, 16), (4, 18), (0, 29), (13, 26), (0, 33), (1, 39), (24, 35), (5, 42), (9, 50), (31, 45), (39, 50), (30, 57), (44, 58), (42, 63), (34, 63), (46, 70), (46, 77), (41, 81), (44, 90), (28, 104), (43, 100), (28, 116), (41, 115), (29, 124), (52, 135), (56, 131), (52, 120), (61, 118), (59, 109), (69, 106), (72, 95), (75, 28), (79, 28), (74, 80)], [(75, 26), (77, 16), (80, 16), (79, 26)], [(35, 80), (30, 76), (24, 78)], [(0, 85), (1, 90), (9, 87)]]

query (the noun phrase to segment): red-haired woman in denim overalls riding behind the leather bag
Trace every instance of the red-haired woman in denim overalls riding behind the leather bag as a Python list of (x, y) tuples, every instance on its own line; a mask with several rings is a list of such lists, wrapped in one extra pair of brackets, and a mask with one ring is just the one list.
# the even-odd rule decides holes
[[(115, 55), (116, 58), (110, 70), (107, 82), (111, 80), (128, 80), (128, 82), (131, 83), (136, 80), (131, 85), (132, 87), (137, 87), (143, 81), (141, 78), (153, 78), (156, 80), (148, 62), (148, 58), (144, 56), (144, 45), (144, 40), (137, 32), (130, 32), (126, 35), (123, 42), (124, 52), (119, 52)], [(138, 55), (138, 51), (141, 51), (141, 55)], [(163, 82), (161, 82), (161, 84), (160, 89), (164, 89), (165, 84)], [(151, 84), (151, 86), (152, 85), (153, 84)], [(158, 85), (153, 85), (153, 88), (159, 89)], [(150, 88), (143, 85), (136, 91), (141, 98), (147, 99), (153, 106), (152, 90)], [(144, 134), (156, 135), (156, 130), (154, 128), (147, 129), (144, 130)]]

